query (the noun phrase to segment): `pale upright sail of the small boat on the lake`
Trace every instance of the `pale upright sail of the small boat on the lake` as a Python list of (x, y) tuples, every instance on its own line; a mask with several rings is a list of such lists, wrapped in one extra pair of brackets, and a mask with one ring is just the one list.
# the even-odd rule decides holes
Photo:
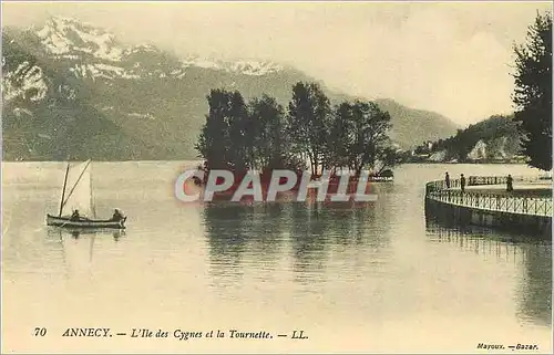
[(82, 217), (94, 217), (91, 160), (70, 167), (68, 174), (62, 216), (71, 216), (75, 209)]

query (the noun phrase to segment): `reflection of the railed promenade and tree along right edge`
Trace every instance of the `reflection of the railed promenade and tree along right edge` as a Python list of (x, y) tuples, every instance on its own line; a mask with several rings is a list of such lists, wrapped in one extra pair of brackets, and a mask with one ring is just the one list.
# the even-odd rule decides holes
[(494, 255), (499, 261), (513, 262), (517, 275), (517, 314), (524, 322), (552, 324), (552, 243), (526, 236), (501, 234), (484, 228), (448, 228), (428, 222), (428, 238), (449, 242), (478, 254)]

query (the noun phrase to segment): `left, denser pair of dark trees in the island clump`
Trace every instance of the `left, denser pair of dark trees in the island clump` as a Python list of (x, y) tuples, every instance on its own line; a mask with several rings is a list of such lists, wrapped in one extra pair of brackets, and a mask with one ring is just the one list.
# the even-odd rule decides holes
[(249, 169), (302, 169), (288, 150), (284, 109), (263, 95), (245, 104), (238, 91), (212, 90), (209, 111), (196, 150), (204, 168), (228, 169), (238, 175)]

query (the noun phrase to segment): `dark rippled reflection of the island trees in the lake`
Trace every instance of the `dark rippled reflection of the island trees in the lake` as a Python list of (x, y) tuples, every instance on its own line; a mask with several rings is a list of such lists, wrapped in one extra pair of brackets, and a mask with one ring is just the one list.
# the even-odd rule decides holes
[(357, 258), (366, 250), (371, 257), (388, 244), (390, 225), (379, 218), (380, 209), (373, 202), (351, 201), (206, 203), (212, 276), (216, 283), (236, 282), (245, 265), (269, 271), (283, 267), (285, 255), (295, 281), (317, 281), (324, 278), (330, 252)]

